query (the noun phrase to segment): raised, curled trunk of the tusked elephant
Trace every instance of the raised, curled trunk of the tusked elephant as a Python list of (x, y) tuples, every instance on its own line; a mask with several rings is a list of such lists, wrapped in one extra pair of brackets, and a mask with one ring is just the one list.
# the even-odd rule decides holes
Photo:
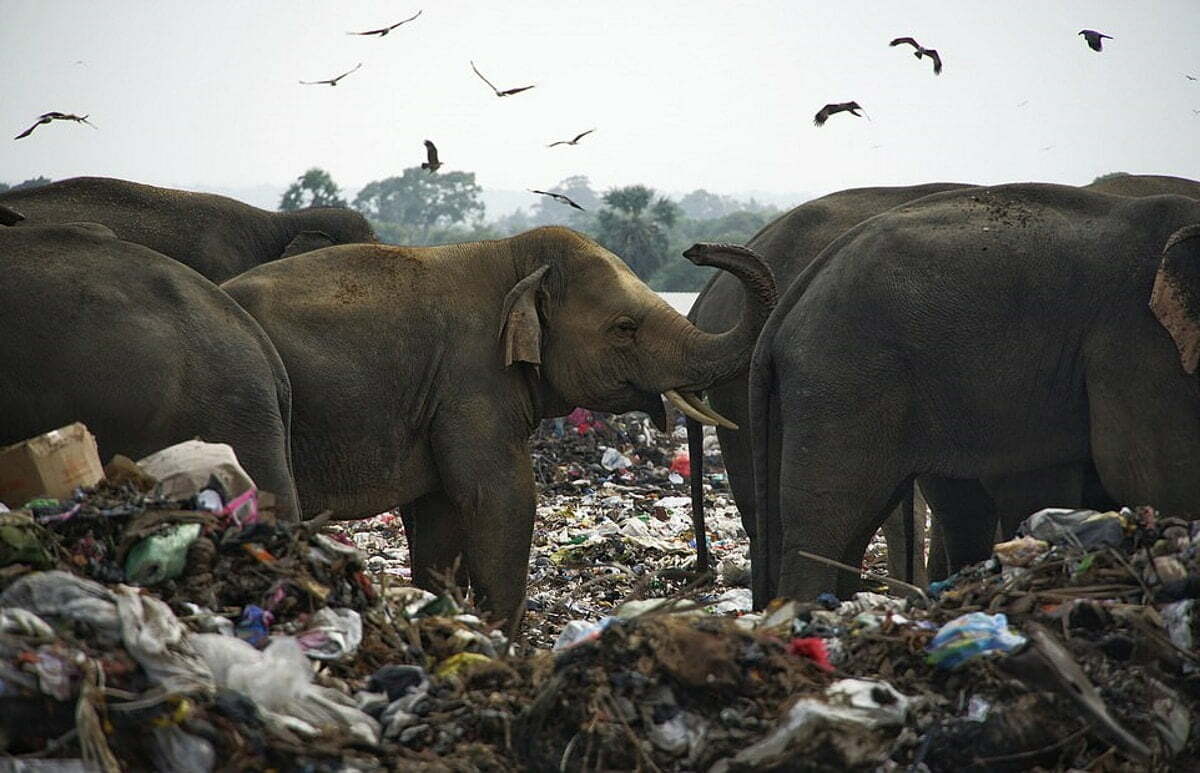
[(685, 383), (704, 389), (730, 380), (749, 367), (758, 331), (778, 300), (775, 276), (752, 250), (739, 245), (700, 242), (683, 254), (696, 265), (728, 271), (746, 289), (742, 319), (733, 329), (716, 334), (692, 329), (694, 340), (686, 349)]

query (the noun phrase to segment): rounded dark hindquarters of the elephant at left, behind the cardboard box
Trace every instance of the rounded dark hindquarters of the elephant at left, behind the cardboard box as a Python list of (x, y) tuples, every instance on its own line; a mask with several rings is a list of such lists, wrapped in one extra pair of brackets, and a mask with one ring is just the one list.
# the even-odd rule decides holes
[(103, 462), (228, 443), (299, 517), (287, 372), (215, 284), (92, 223), (0, 228), (0, 445), (72, 421)]

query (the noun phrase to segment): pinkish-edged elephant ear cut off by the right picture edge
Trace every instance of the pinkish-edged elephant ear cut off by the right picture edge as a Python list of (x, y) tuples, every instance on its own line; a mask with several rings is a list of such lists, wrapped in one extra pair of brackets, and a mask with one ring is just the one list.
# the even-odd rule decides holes
[(1166, 240), (1150, 308), (1171, 334), (1183, 370), (1195, 373), (1200, 365), (1200, 224), (1180, 228)]

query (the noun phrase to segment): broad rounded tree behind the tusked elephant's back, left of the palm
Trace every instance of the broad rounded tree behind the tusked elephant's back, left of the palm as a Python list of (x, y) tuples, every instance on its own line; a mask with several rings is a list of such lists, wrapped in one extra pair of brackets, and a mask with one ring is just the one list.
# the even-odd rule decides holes
[(400, 176), (368, 182), (354, 197), (354, 208), (396, 226), (390, 233), (403, 234), (400, 244), (442, 244), (434, 239), (451, 233), (452, 226), (482, 218), (481, 192), (474, 172), (430, 174), (409, 167)]

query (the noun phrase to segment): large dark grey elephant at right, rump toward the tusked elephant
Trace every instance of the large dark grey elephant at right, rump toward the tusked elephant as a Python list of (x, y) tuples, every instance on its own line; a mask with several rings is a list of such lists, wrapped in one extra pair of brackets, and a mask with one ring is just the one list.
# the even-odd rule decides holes
[[(1118, 502), (1200, 514), (1200, 384), (1181, 366), (1200, 347), (1200, 239), (1165, 252), (1150, 307), (1164, 245), (1198, 222), (1180, 196), (1022, 184), (896, 208), (822, 251), (750, 372), (756, 598), (852, 589), (793, 551), (857, 562), (917, 475), (1091, 460)], [(952, 555), (979, 533), (943, 519)]]

